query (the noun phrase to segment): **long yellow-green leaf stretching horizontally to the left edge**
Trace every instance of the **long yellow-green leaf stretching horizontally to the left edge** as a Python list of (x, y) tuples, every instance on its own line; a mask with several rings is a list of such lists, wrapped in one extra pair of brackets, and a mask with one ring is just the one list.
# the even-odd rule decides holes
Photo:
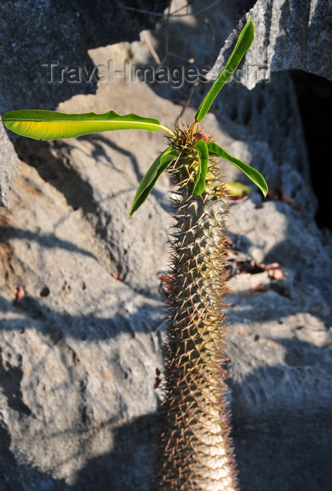
[(145, 118), (133, 113), (121, 116), (114, 111), (105, 114), (95, 114), (95, 112), (67, 114), (27, 109), (6, 112), (2, 121), (9, 130), (35, 140), (55, 140), (111, 130), (162, 129), (170, 133), (170, 130), (162, 126), (157, 119)]

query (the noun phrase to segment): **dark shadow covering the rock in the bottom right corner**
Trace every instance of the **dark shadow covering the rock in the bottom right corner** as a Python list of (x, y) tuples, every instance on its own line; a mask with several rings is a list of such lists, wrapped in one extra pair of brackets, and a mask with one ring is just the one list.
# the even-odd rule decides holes
[(278, 340), (284, 365), (230, 379), (244, 491), (328, 491), (332, 480), (331, 348)]

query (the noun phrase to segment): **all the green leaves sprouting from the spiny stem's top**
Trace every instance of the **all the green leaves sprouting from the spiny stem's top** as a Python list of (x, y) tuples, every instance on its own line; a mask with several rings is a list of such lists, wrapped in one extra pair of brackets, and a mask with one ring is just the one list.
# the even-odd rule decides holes
[[(253, 21), (249, 18), (239, 34), (230, 58), (228, 58), (225, 66), (221, 69), (220, 74), (210, 90), (208, 90), (195, 114), (195, 121), (190, 126), (192, 137), (195, 135), (194, 128), (197, 128), (197, 123), (204, 119), (208, 110), (211, 108), (213, 100), (215, 100), (215, 97), (217, 97), (225, 83), (232, 77), (239, 62), (250, 48), (254, 33)], [(172, 163), (181, 163), (182, 150), (172, 145), (172, 140), (174, 142), (176, 139), (173, 132), (166, 128), (166, 126), (161, 125), (157, 119), (139, 116), (138, 114), (131, 113), (123, 116), (114, 111), (109, 111), (105, 114), (95, 114), (94, 112), (67, 114), (63, 112), (27, 109), (7, 112), (4, 114), (2, 121), (9, 130), (37, 140), (77, 137), (79, 135), (87, 135), (88, 133), (121, 129), (164, 130), (169, 135), (171, 144), (164, 152), (161, 152), (157, 156), (157, 159), (154, 160), (152, 166), (143, 177), (142, 182), (140, 182), (135, 198), (133, 199), (130, 215), (133, 215), (145, 199), (147, 199), (161, 173), (171, 166)], [(199, 133), (196, 133), (196, 135), (199, 135)], [(205, 191), (208, 160), (210, 157), (220, 157), (237, 166), (266, 196), (267, 184), (263, 175), (258, 170), (228, 154), (215, 142), (207, 143), (202, 137), (197, 138), (197, 141), (192, 146), (194, 147), (197, 159), (197, 173), (194, 178), (192, 194), (200, 195)]]

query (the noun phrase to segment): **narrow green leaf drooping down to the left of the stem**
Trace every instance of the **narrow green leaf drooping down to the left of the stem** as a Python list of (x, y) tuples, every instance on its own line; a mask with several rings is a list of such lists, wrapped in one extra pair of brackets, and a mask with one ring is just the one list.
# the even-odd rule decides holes
[(157, 156), (157, 159), (152, 163), (152, 166), (147, 173), (142, 178), (138, 190), (136, 191), (135, 197), (133, 199), (133, 204), (131, 205), (131, 210), (129, 216), (133, 215), (138, 208), (144, 203), (152, 191), (154, 184), (156, 184), (157, 179), (161, 173), (168, 168), (168, 166), (178, 158), (178, 152), (176, 152), (173, 147), (168, 147), (164, 152)]

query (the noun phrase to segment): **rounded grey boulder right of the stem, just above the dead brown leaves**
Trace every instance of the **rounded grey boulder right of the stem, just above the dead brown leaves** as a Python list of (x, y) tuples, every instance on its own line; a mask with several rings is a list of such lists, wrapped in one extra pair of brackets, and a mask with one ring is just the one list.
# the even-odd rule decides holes
[[(230, 231), (239, 248), (256, 262), (279, 262), (292, 271), (294, 281), (304, 290), (317, 288), (326, 307), (332, 304), (331, 241), (326, 241), (313, 220), (286, 203), (267, 202), (257, 207), (247, 200), (232, 207)], [(314, 293), (311, 295), (313, 300)], [(309, 299), (303, 309), (310, 311)]]

